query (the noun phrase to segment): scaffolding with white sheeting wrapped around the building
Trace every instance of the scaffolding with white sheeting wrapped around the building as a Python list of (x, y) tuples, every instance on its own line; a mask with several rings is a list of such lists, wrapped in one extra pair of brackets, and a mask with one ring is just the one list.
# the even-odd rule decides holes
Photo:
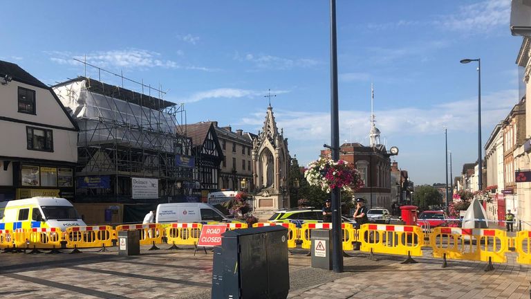
[[(76, 200), (131, 202), (133, 177), (158, 179), (160, 201), (181, 194), (193, 172), (193, 167), (176, 163), (176, 156), (191, 154), (184, 105), (162, 100), (160, 87), (93, 67), (98, 80), (85, 75), (53, 87), (80, 127), (75, 175), (111, 180), (111, 188), (78, 189)], [(122, 86), (102, 82), (102, 71), (118, 76)], [(124, 88), (124, 81), (140, 90)]]

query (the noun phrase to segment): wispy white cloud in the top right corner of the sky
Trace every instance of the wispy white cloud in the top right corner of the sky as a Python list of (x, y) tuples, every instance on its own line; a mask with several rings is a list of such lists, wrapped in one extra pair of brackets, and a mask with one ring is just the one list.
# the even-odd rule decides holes
[(435, 24), (450, 30), (485, 33), (500, 25), (509, 24), (511, 1), (487, 0), (460, 6), (455, 15), (440, 17)]

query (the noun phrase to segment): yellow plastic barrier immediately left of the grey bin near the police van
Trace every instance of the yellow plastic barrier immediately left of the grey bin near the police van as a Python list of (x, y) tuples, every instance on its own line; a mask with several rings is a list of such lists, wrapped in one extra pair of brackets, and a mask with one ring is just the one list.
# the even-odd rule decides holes
[(68, 248), (113, 246), (115, 230), (111, 226), (73, 226), (64, 234)]

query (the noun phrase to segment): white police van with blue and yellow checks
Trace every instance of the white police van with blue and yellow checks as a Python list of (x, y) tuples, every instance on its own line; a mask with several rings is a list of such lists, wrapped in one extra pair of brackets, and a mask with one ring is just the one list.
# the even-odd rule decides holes
[(0, 230), (86, 226), (70, 201), (58, 197), (32, 197), (7, 201)]

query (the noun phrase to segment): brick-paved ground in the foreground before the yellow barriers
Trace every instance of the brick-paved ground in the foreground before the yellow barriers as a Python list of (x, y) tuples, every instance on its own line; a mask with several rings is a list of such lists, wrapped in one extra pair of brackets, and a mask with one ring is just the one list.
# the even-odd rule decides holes
[[(160, 246), (162, 247), (162, 246)], [(167, 247), (167, 246), (165, 246)], [(121, 256), (117, 248), (80, 254), (0, 254), (0, 298), (210, 298), (212, 252), (193, 248), (147, 251)], [(289, 256), (288, 298), (530, 298), (530, 266), (508, 262), (434, 259), (427, 248), (417, 264), (404, 257), (351, 252), (344, 272), (310, 267), (304, 251)]]

